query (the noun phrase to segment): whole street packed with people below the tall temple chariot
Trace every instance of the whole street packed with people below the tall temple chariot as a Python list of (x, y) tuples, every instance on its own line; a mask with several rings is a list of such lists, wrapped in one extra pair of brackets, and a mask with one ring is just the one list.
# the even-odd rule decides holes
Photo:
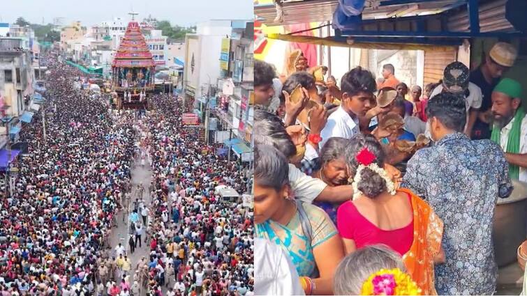
[(2, 295), (251, 295), (251, 215), (215, 193), (244, 192), (246, 167), (182, 127), (172, 95), (117, 111), (73, 88), (77, 69), (47, 64), (2, 198)]

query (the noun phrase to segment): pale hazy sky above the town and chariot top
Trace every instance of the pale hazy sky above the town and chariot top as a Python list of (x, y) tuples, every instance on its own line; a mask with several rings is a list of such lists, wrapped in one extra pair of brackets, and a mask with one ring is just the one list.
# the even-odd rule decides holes
[[(0, 22), (15, 22), (24, 17), (31, 23), (53, 22), (64, 17), (69, 24), (80, 20), (91, 26), (114, 17), (129, 20), (133, 9), (138, 19), (151, 15), (157, 20), (169, 20), (171, 24), (193, 25), (205, 20), (251, 20), (253, 0), (0, 0)], [(137, 19), (136, 19), (137, 20)]]

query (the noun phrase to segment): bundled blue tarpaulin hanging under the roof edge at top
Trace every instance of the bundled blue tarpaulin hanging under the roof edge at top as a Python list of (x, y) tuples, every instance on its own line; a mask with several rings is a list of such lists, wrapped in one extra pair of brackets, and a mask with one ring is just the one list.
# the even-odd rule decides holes
[(333, 13), (333, 29), (359, 29), (366, 0), (339, 0)]

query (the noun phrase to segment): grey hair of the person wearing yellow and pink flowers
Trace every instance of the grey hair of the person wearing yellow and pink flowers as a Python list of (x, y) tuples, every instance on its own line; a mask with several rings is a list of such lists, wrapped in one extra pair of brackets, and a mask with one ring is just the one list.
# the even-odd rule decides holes
[(346, 256), (336, 268), (333, 290), (335, 295), (360, 295), (362, 285), (379, 270), (399, 268), (406, 272), (401, 256), (383, 244), (359, 249)]

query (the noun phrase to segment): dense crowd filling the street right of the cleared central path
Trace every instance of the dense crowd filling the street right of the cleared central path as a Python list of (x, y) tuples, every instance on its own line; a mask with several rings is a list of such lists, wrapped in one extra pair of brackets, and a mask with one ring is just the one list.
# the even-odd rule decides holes
[[(150, 295), (251, 295), (252, 214), (216, 187), (246, 192), (248, 167), (216, 155), (195, 127), (181, 123), (181, 100), (154, 95), (135, 124), (151, 159), (147, 246), (134, 280)], [(142, 211), (140, 211), (142, 212)], [(140, 224), (140, 223), (136, 223)]]

